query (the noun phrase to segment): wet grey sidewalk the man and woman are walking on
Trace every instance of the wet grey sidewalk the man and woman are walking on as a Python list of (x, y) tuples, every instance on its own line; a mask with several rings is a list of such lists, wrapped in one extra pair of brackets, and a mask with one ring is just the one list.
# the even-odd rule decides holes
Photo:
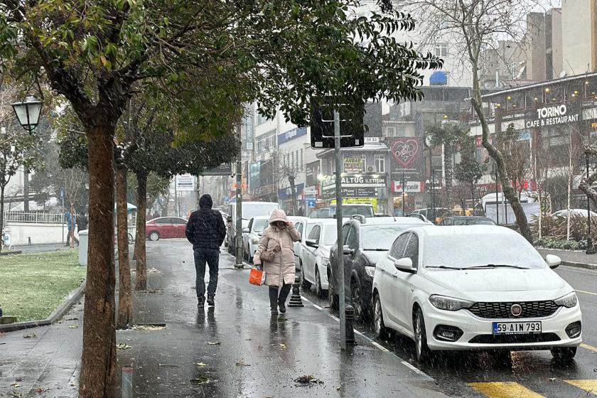
[[(126, 345), (118, 350), (118, 367), (134, 364), (136, 397), (446, 397), (430, 377), (360, 335), (355, 348), (341, 353), (338, 321), (308, 301), (271, 318), (267, 289), (249, 285), (249, 271), (235, 270), (232, 260), (222, 252), (216, 307), (198, 312), (188, 244), (149, 245), (148, 267), (156, 271), (149, 273), (148, 293), (134, 298), (134, 319), (166, 327), (117, 335), (117, 342)], [(73, 322), (80, 321), (55, 324), (45, 332), (28, 330), (38, 335), (36, 347), (23, 346), (33, 343), (23, 339), (24, 333), (0, 337), (0, 344), (7, 343), (0, 348), (0, 397), (12, 391), (6, 387), (18, 377), (23, 397), (27, 392), (76, 396), (70, 384), (77, 382), (81, 328), (66, 326)], [(44, 352), (60, 362), (40, 360)], [(36, 369), (36, 381), (25, 379), (35, 379), (33, 372), (19, 376), (14, 370), (26, 366)], [(48, 370), (56, 367), (62, 373)], [(319, 382), (303, 386), (295, 381), (303, 375)], [(53, 387), (50, 381), (61, 388), (34, 394), (34, 387)]]

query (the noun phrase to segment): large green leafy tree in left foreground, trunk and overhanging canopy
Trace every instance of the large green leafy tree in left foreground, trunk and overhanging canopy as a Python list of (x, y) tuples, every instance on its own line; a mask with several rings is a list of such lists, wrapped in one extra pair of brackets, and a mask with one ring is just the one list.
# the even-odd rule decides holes
[[(306, 124), (312, 98), (421, 98), (417, 70), (441, 65), (390, 37), (414, 21), (350, 13), (357, 0), (102, 2), (7, 0), (0, 56), (21, 80), (47, 80), (87, 135), (90, 242), (81, 397), (114, 397), (113, 141), (137, 90), (161, 92), (177, 141), (230, 131), (240, 104), (276, 105)], [(139, 184), (141, 185), (141, 184)]]

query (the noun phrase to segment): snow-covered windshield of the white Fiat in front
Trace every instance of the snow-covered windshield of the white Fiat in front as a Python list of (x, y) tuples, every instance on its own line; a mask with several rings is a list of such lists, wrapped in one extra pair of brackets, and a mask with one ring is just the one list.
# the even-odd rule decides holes
[(427, 236), (424, 240), (424, 267), (470, 268), (488, 264), (546, 267), (541, 255), (521, 235), (451, 233)]

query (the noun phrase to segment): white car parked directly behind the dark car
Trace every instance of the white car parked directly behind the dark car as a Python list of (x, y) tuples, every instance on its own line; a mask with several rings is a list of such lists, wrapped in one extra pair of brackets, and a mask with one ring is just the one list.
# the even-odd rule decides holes
[(328, 267), (330, 249), (338, 234), (333, 218), (311, 219), (307, 222), (307, 237), (303, 240), (300, 254), (301, 285), (310, 289), (315, 285), (318, 296), (328, 290)]

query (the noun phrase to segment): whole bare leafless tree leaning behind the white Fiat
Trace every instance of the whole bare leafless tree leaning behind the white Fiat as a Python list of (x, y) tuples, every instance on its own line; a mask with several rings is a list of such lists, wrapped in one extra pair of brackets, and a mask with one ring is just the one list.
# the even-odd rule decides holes
[(489, 140), (489, 127), (481, 98), (481, 58), (484, 50), (497, 49), (498, 39), (520, 43), (525, 35), (525, 21), (529, 11), (537, 6), (535, 0), (396, 0), (394, 5), (406, 9), (421, 21), (420, 45), (429, 46), (449, 41), (461, 53), (463, 63), (470, 65), (473, 92), (470, 103), (483, 130), (483, 146), (495, 159), (505, 197), (512, 205), (520, 233), (532, 241), (520, 200), (512, 187), (506, 170), (506, 159)]

